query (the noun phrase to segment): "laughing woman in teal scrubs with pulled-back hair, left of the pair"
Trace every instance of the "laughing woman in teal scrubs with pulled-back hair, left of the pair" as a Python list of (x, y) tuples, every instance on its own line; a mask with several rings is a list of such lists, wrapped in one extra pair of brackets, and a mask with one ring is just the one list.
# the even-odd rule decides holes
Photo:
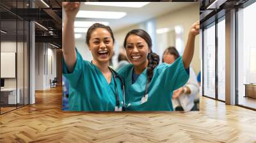
[(63, 2), (62, 73), (68, 80), (68, 110), (121, 111), (122, 81), (109, 68), (115, 38), (109, 26), (95, 23), (86, 33), (86, 44), (92, 52), (92, 61), (85, 61), (76, 49), (74, 22), (79, 2)]

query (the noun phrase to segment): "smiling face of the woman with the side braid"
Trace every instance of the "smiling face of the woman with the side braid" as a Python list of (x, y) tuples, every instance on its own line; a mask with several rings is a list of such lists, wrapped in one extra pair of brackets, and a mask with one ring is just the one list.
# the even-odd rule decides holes
[(150, 52), (147, 42), (137, 36), (136, 34), (131, 34), (126, 40), (125, 50), (129, 61), (134, 66), (140, 66), (147, 63), (147, 56)]

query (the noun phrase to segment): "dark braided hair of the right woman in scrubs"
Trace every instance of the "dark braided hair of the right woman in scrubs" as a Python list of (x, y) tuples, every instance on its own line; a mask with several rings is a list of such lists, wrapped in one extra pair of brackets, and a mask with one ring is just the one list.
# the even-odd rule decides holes
[(156, 53), (152, 52), (152, 40), (151, 40), (149, 34), (142, 29), (133, 29), (132, 31), (127, 33), (125, 36), (125, 40), (124, 40), (124, 47), (126, 46), (127, 38), (131, 34), (135, 34), (135, 35), (143, 38), (147, 42), (148, 48), (151, 51), (150, 53), (148, 53), (148, 57), (147, 57), (148, 58), (147, 78), (148, 78), (148, 82), (150, 82), (154, 75), (154, 68), (156, 68), (156, 66), (159, 64), (159, 56)]

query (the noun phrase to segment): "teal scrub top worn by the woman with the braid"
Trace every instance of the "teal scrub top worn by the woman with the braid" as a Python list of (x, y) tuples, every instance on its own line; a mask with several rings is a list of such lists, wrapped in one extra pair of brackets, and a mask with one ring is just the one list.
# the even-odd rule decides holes
[(133, 69), (134, 66), (128, 64), (118, 71), (125, 83), (125, 105), (131, 103), (125, 110), (172, 111), (173, 91), (184, 86), (189, 79), (182, 57), (179, 57), (173, 64), (162, 63), (154, 69), (154, 75), (148, 86), (148, 100), (144, 103), (141, 103), (141, 98), (145, 94), (147, 68), (139, 75), (134, 84), (132, 84)]

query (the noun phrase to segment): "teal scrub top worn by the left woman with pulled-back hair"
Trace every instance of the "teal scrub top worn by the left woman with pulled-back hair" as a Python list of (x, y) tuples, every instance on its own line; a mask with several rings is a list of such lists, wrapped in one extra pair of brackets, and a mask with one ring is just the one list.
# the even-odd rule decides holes
[[(69, 73), (65, 61), (62, 62), (63, 75), (69, 82), (68, 108), (72, 111), (114, 111), (116, 87), (113, 73), (111, 82), (89, 61), (84, 61), (77, 51), (74, 71)], [(122, 108), (121, 82), (116, 78), (120, 107)]]

